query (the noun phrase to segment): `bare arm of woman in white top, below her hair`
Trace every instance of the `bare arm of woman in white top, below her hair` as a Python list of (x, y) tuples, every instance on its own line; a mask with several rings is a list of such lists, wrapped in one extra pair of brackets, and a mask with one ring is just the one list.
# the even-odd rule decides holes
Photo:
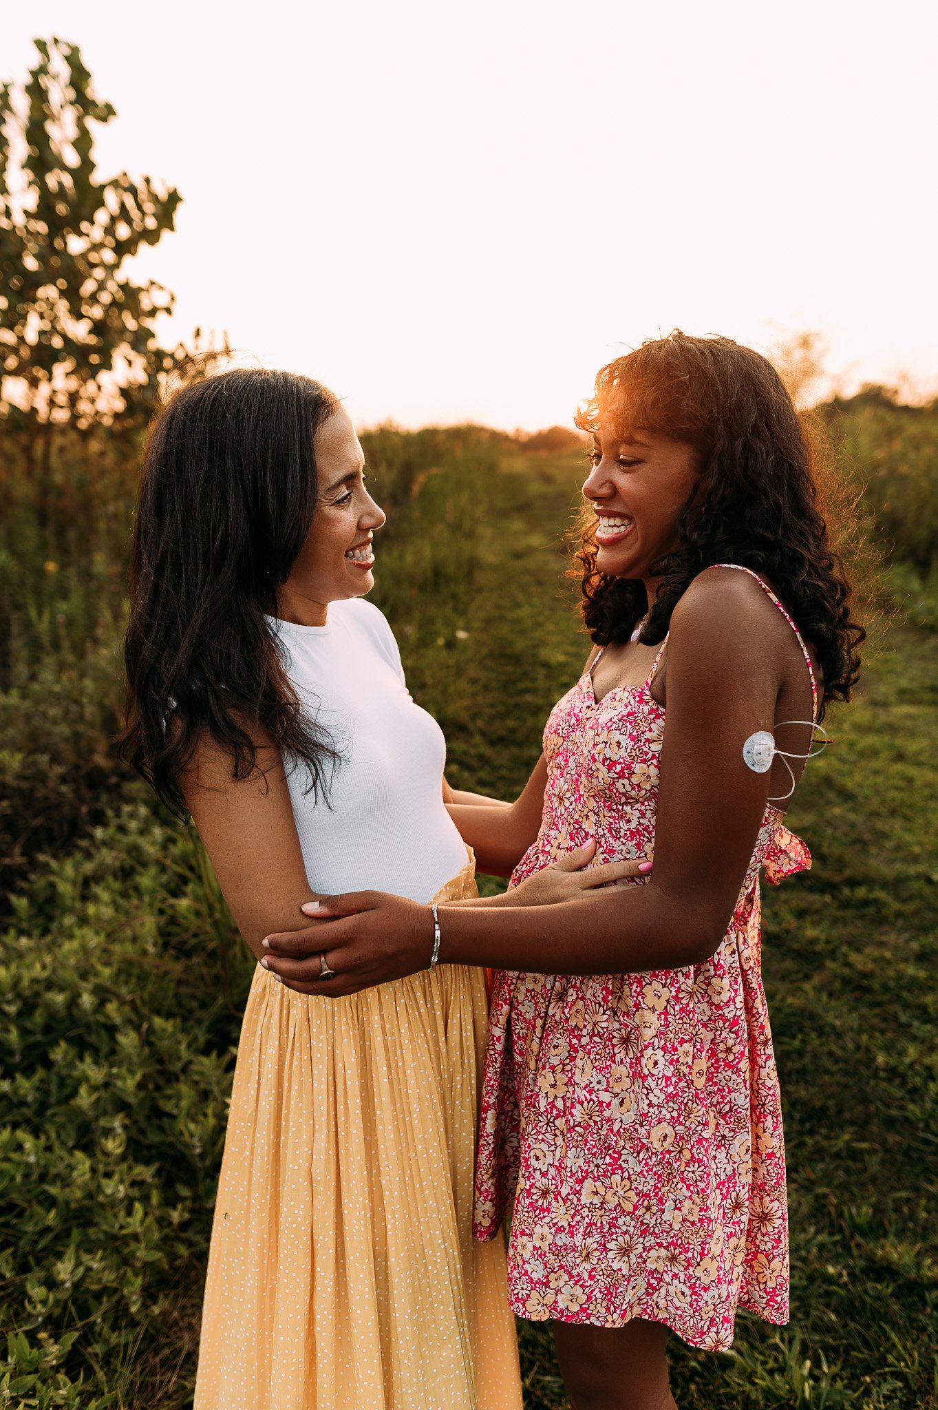
[(185, 778), (189, 811), (215, 869), (235, 925), (261, 959), (270, 931), (301, 924), (310, 890), (279, 752), (258, 752), (256, 770), (231, 777), (231, 757), (210, 737), (197, 749)]

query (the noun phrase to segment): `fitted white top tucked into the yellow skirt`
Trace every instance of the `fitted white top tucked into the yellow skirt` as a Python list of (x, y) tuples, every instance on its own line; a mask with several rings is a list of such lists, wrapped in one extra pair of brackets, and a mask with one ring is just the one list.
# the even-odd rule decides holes
[(465, 867), (466, 846), (442, 801), (446, 742), (410, 697), (387, 620), (352, 598), (330, 603), (325, 626), (268, 622), (300, 699), (342, 756), (328, 802), (304, 792), (304, 764), (287, 778), (311, 888), (431, 901)]

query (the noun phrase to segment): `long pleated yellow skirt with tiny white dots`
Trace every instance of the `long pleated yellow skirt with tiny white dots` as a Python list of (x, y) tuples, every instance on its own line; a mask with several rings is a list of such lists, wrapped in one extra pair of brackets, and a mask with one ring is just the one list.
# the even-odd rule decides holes
[(258, 966), (194, 1410), (521, 1410), (504, 1244), (472, 1238), (486, 1025), (482, 970), (330, 1000)]

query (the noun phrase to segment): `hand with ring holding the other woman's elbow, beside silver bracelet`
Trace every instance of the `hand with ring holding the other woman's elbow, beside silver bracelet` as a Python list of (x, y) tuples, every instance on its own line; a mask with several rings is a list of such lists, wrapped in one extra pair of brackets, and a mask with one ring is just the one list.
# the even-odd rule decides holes
[[(348, 891), (320, 897), (304, 909), (311, 912), (310, 925), (268, 935), (261, 960), (299, 994), (339, 998), (430, 964), (434, 918), (428, 905), (384, 891)], [(323, 977), (323, 956), (334, 979)]]

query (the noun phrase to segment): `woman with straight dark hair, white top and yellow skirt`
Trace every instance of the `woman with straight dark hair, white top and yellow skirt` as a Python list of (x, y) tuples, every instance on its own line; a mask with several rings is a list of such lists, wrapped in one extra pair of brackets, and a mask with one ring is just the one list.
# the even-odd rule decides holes
[[(363, 465), (339, 402), (287, 372), (190, 385), (146, 446), (124, 750), (194, 819), (258, 957), (323, 891), (476, 895), (442, 733), (363, 601)], [(520, 1410), (504, 1246), (472, 1238), (484, 976), (437, 967), (423, 914), (423, 973), (368, 994), (258, 966), (196, 1410)]]

